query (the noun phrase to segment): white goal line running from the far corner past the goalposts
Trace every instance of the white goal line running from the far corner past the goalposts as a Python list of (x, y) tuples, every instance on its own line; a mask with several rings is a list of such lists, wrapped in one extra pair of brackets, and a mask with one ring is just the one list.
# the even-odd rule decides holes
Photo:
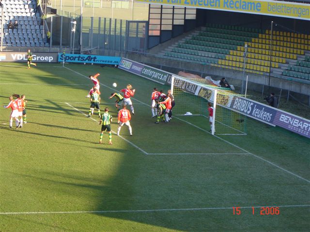
[[(85, 77), (85, 78), (88, 78), (87, 76), (84, 76), (83, 74), (78, 73), (78, 72), (76, 72), (76, 71), (74, 71), (74, 70), (72, 70), (72, 69), (69, 69), (69, 68), (67, 68), (67, 67), (65, 67), (65, 68), (68, 69), (68, 70), (70, 70), (70, 71), (72, 71), (72, 72), (74, 72), (74, 73), (77, 73), (77, 74), (79, 74), (79, 75), (81, 75), (81, 76), (83, 76), (83, 77)], [(89, 78), (88, 78), (88, 79), (89, 79)], [(111, 88), (111, 87), (109, 87), (109, 86), (106, 86), (106, 85), (103, 85), (103, 84), (100, 84), (100, 85), (105, 86), (105, 87), (108, 87), (108, 88), (110, 88), (110, 89), (113, 89), (113, 88)], [(115, 89), (113, 89), (113, 90), (115, 90)], [(135, 98), (133, 98), (133, 99), (135, 99)], [(135, 99), (135, 100), (136, 100), (137, 102), (140, 102), (140, 103), (144, 104), (144, 105), (150, 106), (150, 105), (148, 105), (148, 104), (146, 104), (146, 103), (144, 103), (144, 102), (141, 102), (141, 101), (139, 101), (139, 100), (137, 100), (137, 99)], [(187, 122), (187, 121), (185, 121), (185, 120), (183, 120), (183, 119), (181, 119), (181, 118), (179, 118), (179, 117), (174, 117), (174, 118), (177, 118), (177, 119), (179, 119), (179, 120), (181, 120), (181, 121), (183, 121), (183, 122), (185, 122), (185, 123), (187, 123), (187, 124), (189, 124), (189, 125), (192, 125), (193, 127), (198, 128), (199, 130), (202, 130), (202, 131), (205, 131), (205, 132), (211, 134), (209, 131), (203, 130), (202, 128), (200, 128), (200, 127), (198, 127), (198, 126), (196, 126), (196, 125), (194, 125), (194, 124), (192, 124), (192, 123), (190, 123), (190, 122)], [(307, 179), (305, 179), (305, 178), (303, 178), (303, 177), (301, 177), (301, 176), (299, 176), (299, 175), (297, 175), (297, 174), (294, 174), (294, 173), (292, 173), (292, 172), (290, 172), (290, 171), (288, 171), (288, 170), (286, 170), (286, 169), (284, 169), (284, 168), (278, 166), (277, 164), (275, 164), (275, 163), (273, 163), (273, 162), (270, 162), (270, 161), (268, 161), (268, 160), (263, 159), (263, 158), (260, 157), (260, 156), (254, 155), (253, 153), (248, 152), (247, 150), (245, 150), (245, 149), (243, 149), (243, 148), (241, 148), (241, 147), (239, 147), (239, 146), (237, 146), (237, 145), (234, 145), (233, 143), (228, 142), (227, 140), (222, 139), (222, 138), (218, 137), (217, 135), (214, 135), (214, 136), (215, 136), (216, 138), (218, 138), (218, 139), (224, 141), (225, 143), (228, 143), (228, 144), (230, 144), (230, 145), (232, 145), (232, 146), (234, 146), (234, 147), (237, 147), (237, 148), (239, 148), (240, 150), (242, 150), (242, 151), (244, 151), (244, 152), (246, 152), (246, 153), (248, 153), (248, 154), (254, 156), (254, 157), (257, 158), (257, 159), (263, 160), (263, 161), (265, 161), (265, 162), (267, 162), (267, 163), (269, 163), (269, 164), (271, 164), (271, 165), (273, 165), (273, 166), (275, 166), (275, 167), (281, 169), (281, 170), (284, 171), (284, 172), (287, 172), (287, 173), (289, 173), (289, 174), (292, 174), (292, 175), (294, 175), (294, 176), (296, 176), (296, 177), (298, 177), (298, 178), (300, 178), (300, 179), (302, 179), (302, 180), (305, 180), (305, 181), (307, 181), (308, 183), (310, 183), (310, 180), (307, 180)]]

